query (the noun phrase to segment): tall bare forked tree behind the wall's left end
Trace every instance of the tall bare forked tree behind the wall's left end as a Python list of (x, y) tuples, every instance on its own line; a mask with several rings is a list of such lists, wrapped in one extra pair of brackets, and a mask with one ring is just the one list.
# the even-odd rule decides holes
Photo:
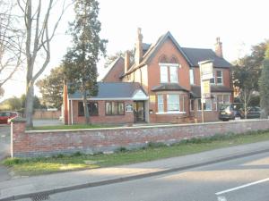
[[(67, 0), (17, 0), (22, 10), (26, 33), (26, 102), (25, 115), (27, 126), (32, 127), (34, 83), (45, 71), (50, 61), (50, 43), (55, 37), (56, 29), (67, 7)], [(59, 11), (59, 7), (61, 10)], [(54, 8), (57, 8), (54, 9)], [(51, 19), (52, 11), (56, 11), (56, 21)], [(39, 59), (38, 59), (39, 58)]]

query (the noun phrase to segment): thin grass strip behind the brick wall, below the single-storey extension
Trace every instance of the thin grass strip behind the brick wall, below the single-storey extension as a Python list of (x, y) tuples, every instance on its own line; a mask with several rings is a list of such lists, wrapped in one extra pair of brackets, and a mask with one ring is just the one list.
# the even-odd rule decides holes
[(89, 125), (89, 124), (74, 124), (74, 125), (55, 125), (55, 126), (35, 126), (29, 130), (79, 130), (79, 129), (103, 129), (115, 128), (117, 125)]

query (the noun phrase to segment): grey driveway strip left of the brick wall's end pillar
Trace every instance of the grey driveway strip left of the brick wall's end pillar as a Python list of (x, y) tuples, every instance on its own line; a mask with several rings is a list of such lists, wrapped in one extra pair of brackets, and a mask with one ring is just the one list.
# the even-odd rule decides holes
[(10, 178), (7, 169), (1, 161), (10, 156), (10, 125), (0, 124), (0, 181)]

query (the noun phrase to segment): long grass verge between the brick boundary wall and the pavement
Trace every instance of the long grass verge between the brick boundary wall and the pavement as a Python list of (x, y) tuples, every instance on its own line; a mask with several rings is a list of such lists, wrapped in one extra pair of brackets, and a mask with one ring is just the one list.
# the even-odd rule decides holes
[(125, 147), (121, 147), (116, 153), (109, 155), (82, 155), (81, 153), (75, 153), (74, 155), (56, 155), (53, 157), (30, 159), (8, 158), (4, 160), (3, 164), (7, 166), (10, 171), (14, 172), (15, 175), (30, 176), (146, 162), (264, 140), (269, 140), (269, 131), (184, 139), (171, 146), (162, 143), (149, 143), (147, 147), (136, 150), (126, 150)]

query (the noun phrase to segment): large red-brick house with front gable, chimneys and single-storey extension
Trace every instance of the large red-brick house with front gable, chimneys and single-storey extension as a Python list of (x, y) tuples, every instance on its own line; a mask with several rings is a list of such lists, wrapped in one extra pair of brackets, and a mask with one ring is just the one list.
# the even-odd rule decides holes
[[(201, 121), (199, 62), (213, 60), (212, 98), (204, 104), (204, 120), (217, 121), (220, 104), (233, 102), (231, 64), (222, 55), (217, 38), (215, 51), (181, 47), (167, 32), (156, 43), (143, 43), (137, 31), (134, 63), (130, 53), (111, 64), (99, 83), (98, 96), (89, 98), (93, 123)], [(84, 121), (82, 95), (67, 93), (65, 86), (65, 123)]]

